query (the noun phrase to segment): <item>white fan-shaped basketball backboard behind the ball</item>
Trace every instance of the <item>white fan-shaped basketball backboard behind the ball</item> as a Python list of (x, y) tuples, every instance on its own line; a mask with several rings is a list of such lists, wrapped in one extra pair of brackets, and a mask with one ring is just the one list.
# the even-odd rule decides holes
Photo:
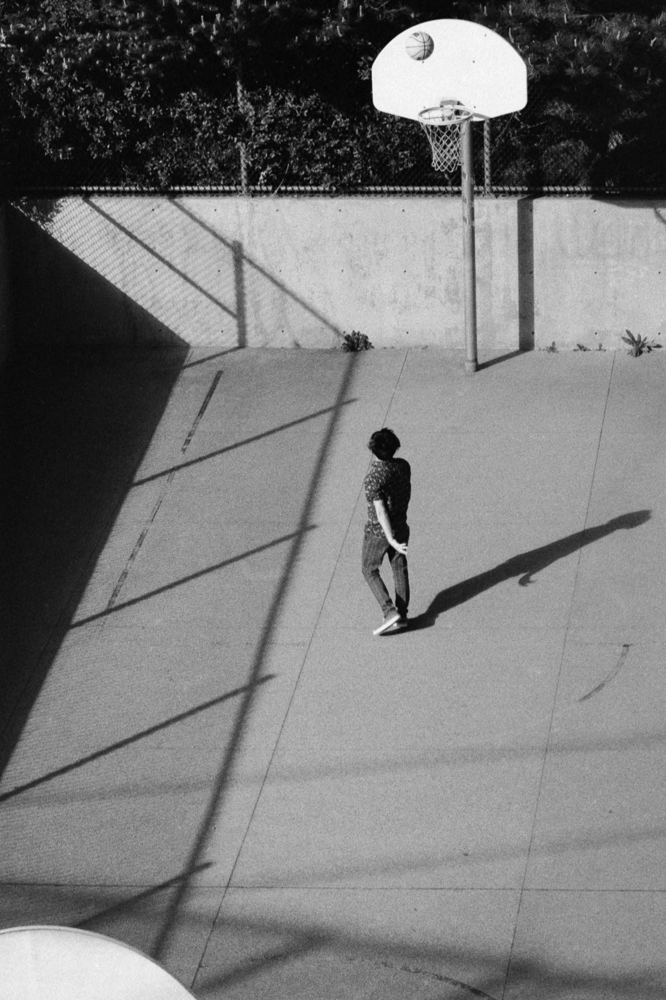
[[(414, 32), (434, 43), (426, 59), (407, 54)], [(372, 101), (378, 111), (413, 118), (442, 100), (456, 100), (476, 118), (496, 118), (527, 104), (527, 67), (509, 42), (472, 21), (442, 19), (396, 35), (372, 64)]]

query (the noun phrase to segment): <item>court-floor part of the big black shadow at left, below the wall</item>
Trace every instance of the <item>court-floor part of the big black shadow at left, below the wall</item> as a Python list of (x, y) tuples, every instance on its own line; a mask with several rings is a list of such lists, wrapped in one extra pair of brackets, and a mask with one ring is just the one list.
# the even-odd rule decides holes
[[(173, 349), (15, 352), (3, 372), (0, 769), (57, 654), (184, 355)], [(21, 710), (6, 729), (19, 698)]]

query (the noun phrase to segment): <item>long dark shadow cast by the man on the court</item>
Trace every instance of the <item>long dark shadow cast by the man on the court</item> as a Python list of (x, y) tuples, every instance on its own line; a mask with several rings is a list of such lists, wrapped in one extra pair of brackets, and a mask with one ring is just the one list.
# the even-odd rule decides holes
[(621, 514), (596, 528), (585, 528), (583, 531), (567, 535), (566, 538), (560, 538), (549, 545), (542, 545), (538, 549), (530, 549), (529, 552), (512, 556), (511, 559), (507, 559), (506, 562), (500, 563), (493, 569), (486, 570), (485, 573), (479, 573), (477, 576), (470, 577), (469, 580), (463, 580), (461, 583), (455, 583), (452, 587), (447, 587), (446, 590), (440, 590), (422, 614), (410, 619), (409, 631), (431, 628), (437, 617), (444, 611), (449, 611), (458, 604), (464, 604), (465, 601), (471, 600), (477, 594), (482, 594), (484, 590), (488, 590), (498, 583), (503, 583), (504, 580), (510, 580), (514, 576), (518, 577), (520, 587), (527, 587), (528, 584), (534, 583), (532, 577), (550, 566), (551, 563), (571, 555), (584, 545), (589, 545), (606, 535), (611, 535), (614, 531), (623, 528), (637, 528), (649, 521), (650, 516), (649, 510), (636, 510), (629, 514)]

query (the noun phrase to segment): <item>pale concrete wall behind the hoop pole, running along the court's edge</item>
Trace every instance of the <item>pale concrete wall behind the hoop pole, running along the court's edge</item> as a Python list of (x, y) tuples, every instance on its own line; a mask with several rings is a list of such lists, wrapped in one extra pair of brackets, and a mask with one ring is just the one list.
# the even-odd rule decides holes
[[(9, 220), (22, 343), (464, 346), (457, 198), (66, 198)], [(666, 326), (661, 203), (478, 198), (476, 240), (481, 353)]]

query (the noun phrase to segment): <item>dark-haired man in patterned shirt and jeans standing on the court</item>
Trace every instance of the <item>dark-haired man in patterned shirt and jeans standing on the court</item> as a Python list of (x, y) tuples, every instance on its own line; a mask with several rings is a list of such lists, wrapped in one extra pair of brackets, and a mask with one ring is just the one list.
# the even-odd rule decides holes
[[(375, 431), (368, 443), (372, 462), (363, 480), (368, 521), (363, 536), (362, 572), (384, 615), (373, 635), (397, 632), (407, 627), (407, 507), (412, 487), (409, 462), (404, 458), (394, 458), (399, 447), (400, 441), (388, 427)], [(379, 574), (379, 567), (387, 554), (393, 570), (395, 603)]]

